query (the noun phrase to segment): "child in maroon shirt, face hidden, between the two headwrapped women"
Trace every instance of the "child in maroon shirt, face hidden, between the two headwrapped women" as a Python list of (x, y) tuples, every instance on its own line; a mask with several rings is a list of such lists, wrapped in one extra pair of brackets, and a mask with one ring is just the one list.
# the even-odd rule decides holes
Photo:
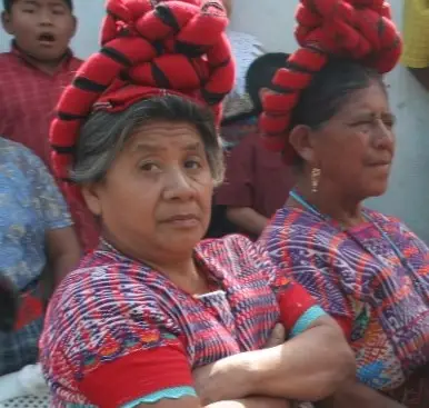
[(260, 94), (263, 88), (272, 88), (273, 74), (286, 66), (287, 58), (281, 52), (267, 53), (251, 63), (246, 84), (253, 105), (252, 122), (247, 119), (249, 133), (228, 156), (226, 179), (216, 193), (216, 203), (226, 207), (228, 220), (253, 239), (283, 206), (293, 186), (291, 168), (279, 153), (262, 146), (257, 123), (262, 111)]

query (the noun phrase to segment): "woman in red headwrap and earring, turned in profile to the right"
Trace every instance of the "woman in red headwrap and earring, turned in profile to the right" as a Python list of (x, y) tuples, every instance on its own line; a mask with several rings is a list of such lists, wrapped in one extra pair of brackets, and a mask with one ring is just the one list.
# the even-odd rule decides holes
[[(318, 10), (319, 2), (313, 3)], [(323, 24), (310, 31), (302, 26), (309, 17), (323, 21), (323, 16), (302, 6), (298, 11), (303, 48), (278, 73), (279, 94), (266, 94), (262, 118), (271, 146), (283, 141), (283, 156), (296, 165), (298, 182), (261, 243), (273, 262), (336, 318), (355, 350), (358, 378), (368, 388), (345, 389), (335, 406), (398, 406), (372, 388), (407, 407), (427, 407), (429, 250), (399, 220), (362, 206), (388, 185), (395, 117), (381, 73), (396, 64), (400, 44), (387, 14), (377, 18), (381, 2), (373, 1), (369, 10), (362, 10), (362, 3), (345, 2), (336, 9), (337, 19), (348, 13), (353, 29), (330, 27), (343, 41), (333, 44)], [(382, 30), (371, 32), (368, 22)], [(355, 44), (361, 49), (348, 48), (353, 44), (350, 36), (360, 37)], [(279, 106), (276, 98), (287, 103)], [(407, 387), (397, 390), (407, 380)]]

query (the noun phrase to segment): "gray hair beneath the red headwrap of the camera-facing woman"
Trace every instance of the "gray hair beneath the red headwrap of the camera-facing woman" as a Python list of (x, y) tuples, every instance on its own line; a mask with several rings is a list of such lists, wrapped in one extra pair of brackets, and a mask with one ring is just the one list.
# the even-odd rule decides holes
[(142, 100), (122, 112), (96, 111), (83, 125), (70, 178), (77, 183), (102, 181), (132, 133), (150, 121), (189, 122), (199, 131), (216, 185), (223, 179), (220, 137), (210, 109), (167, 94)]

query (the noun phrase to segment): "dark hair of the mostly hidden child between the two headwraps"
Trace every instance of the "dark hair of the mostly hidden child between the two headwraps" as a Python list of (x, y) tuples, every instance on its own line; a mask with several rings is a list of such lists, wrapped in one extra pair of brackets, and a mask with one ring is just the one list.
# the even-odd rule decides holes
[(286, 66), (289, 54), (285, 52), (268, 52), (250, 64), (246, 74), (246, 90), (253, 105), (253, 115), (262, 112), (260, 90), (263, 88), (277, 90), (272, 79), (277, 70)]

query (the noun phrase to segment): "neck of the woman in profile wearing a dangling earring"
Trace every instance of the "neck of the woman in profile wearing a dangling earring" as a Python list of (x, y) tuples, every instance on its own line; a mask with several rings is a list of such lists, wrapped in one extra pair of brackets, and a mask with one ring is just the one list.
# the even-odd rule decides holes
[[(339, 193), (333, 186), (325, 183), (323, 186), (319, 186), (318, 190), (313, 192), (308, 182), (300, 180), (295, 190), (321, 215), (336, 220), (343, 228), (352, 228), (365, 221), (361, 201), (359, 199), (345, 197)], [(298, 205), (302, 207), (298, 201), (293, 200), (292, 197), (290, 197), (288, 201), (293, 206)]]

